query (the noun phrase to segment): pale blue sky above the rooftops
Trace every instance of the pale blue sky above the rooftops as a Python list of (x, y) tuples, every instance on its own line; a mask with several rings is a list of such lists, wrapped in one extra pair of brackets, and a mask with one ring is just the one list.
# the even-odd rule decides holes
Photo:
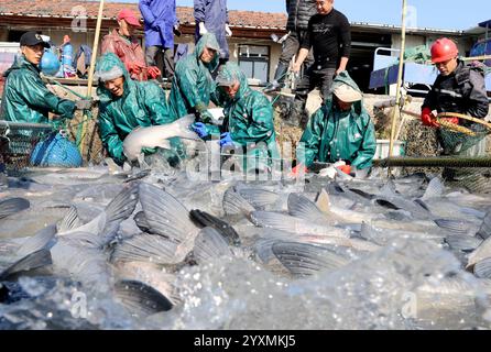
[[(193, 6), (193, 0), (176, 2), (177, 6)], [(468, 30), (491, 20), (490, 0), (408, 0), (407, 6), (410, 26)], [(227, 7), (229, 10), (286, 12), (285, 0), (228, 0)], [(351, 22), (401, 24), (402, 0), (335, 0), (335, 9)]]

